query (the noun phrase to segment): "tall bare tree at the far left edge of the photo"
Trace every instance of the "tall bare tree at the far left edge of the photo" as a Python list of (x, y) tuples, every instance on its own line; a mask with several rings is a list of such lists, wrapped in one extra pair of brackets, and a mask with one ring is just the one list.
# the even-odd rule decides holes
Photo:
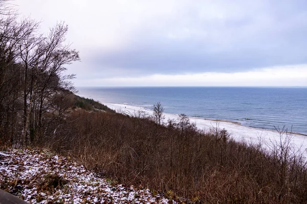
[[(0, 1), (0, 9), (7, 1)], [(25, 67), (18, 62), (20, 57), (20, 47), (23, 42), (29, 39), (29, 35), (37, 29), (37, 23), (30, 19), (17, 22), (17, 15), (11, 14), (8, 10), (6, 14), (0, 14), (0, 132), (4, 136), (9, 136), (10, 144), (13, 137), (17, 138), (19, 133), (21, 99), (23, 87), (26, 87)], [(10, 133), (9, 133), (10, 132)]]

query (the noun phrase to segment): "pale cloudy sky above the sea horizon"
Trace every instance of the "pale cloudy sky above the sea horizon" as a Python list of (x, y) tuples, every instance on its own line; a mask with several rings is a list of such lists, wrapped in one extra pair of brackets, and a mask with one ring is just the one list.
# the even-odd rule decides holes
[(305, 0), (15, 0), (69, 25), (75, 86), (307, 86)]

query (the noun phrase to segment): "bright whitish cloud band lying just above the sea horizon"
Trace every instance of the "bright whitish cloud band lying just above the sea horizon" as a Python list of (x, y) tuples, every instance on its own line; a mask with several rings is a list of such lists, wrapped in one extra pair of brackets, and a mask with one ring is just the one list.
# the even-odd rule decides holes
[(152, 74), (144, 77), (91, 79), (79, 86), (307, 86), (307, 64), (244, 72)]

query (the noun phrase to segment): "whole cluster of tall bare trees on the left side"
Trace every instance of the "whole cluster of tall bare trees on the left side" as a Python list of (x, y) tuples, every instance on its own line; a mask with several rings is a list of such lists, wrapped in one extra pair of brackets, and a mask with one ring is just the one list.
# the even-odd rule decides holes
[(39, 23), (18, 22), (6, 0), (0, 0), (0, 10), (0, 144), (27, 146), (62, 125), (59, 118), (71, 107), (74, 91), (74, 75), (63, 71), (79, 54), (65, 44), (63, 22), (44, 36)]

